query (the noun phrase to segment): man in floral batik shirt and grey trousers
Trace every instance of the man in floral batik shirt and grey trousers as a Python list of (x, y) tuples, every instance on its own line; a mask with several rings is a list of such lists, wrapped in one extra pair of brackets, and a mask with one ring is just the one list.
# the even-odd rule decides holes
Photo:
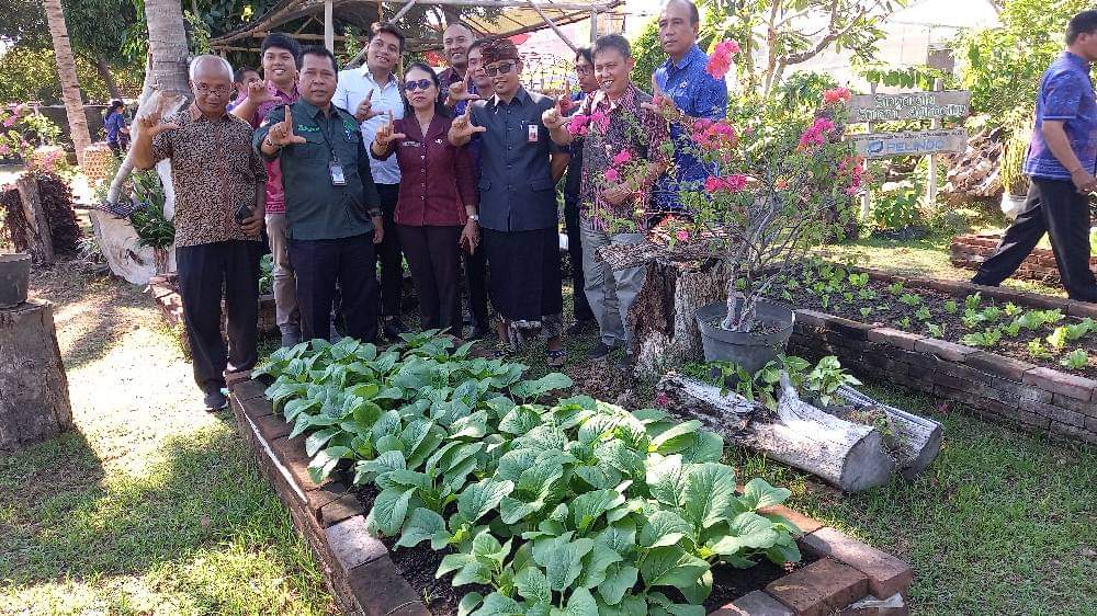
[(643, 267), (612, 270), (598, 249), (644, 240), (648, 192), (667, 169), (663, 145), (669, 136), (663, 116), (642, 106), (652, 96), (629, 78), (635, 66), (629, 41), (620, 34), (600, 36), (592, 55), (601, 89), (584, 100), (578, 113), (606, 119), (589, 119), (583, 137), (567, 130), (567, 118), (556, 107), (546, 111), (543, 119), (553, 141), (583, 149), (583, 273), (587, 300), (601, 332), (601, 341), (589, 353), (597, 358), (614, 347), (629, 349), (626, 317), (644, 283)]

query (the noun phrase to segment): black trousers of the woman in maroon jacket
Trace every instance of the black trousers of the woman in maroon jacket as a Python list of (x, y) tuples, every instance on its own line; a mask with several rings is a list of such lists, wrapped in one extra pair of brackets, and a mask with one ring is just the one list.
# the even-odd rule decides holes
[(448, 329), (461, 335), (461, 227), (411, 227), (397, 225), (400, 246), (411, 269), (419, 296), (419, 322), (423, 330)]

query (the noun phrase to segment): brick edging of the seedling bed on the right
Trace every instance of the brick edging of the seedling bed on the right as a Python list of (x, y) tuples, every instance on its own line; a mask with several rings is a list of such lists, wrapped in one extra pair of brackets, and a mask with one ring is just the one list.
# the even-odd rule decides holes
[[(1034, 293), (985, 287), (959, 281), (905, 277), (869, 267), (850, 267), (885, 283), (938, 290), (958, 298), (981, 292), (995, 299), (1074, 317), (1097, 317), (1097, 305)], [(798, 309), (790, 352), (806, 357), (837, 355), (844, 365), (940, 398), (992, 421), (1086, 443), (1097, 443), (1097, 380), (1037, 366), (887, 327)]]

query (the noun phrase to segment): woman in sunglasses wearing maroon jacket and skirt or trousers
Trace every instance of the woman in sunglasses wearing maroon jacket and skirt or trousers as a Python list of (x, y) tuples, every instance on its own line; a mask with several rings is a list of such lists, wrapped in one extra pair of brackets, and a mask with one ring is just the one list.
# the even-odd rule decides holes
[(425, 64), (404, 71), (404, 117), (377, 129), (373, 156), (394, 152), (400, 167), (396, 232), (411, 269), (422, 329), (461, 335), (459, 247), (479, 243), (476, 182), (466, 146), (446, 138), (451, 118), (439, 100), (438, 75)]

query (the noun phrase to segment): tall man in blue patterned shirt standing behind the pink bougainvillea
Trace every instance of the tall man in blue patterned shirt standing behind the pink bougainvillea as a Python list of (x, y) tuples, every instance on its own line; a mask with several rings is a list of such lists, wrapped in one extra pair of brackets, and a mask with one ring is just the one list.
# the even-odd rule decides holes
[[(670, 0), (659, 14), (659, 42), (668, 57), (652, 76), (653, 94), (674, 103), (668, 115), (675, 144), (675, 168), (659, 179), (654, 191), (659, 209), (681, 209), (682, 184), (700, 186), (713, 169), (693, 157), (689, 127), (694, 119), (722, 119), (727, 115), (727, 84), (704, 71), (709, 56), (697, 46), (701, 16), (688, 0)], [(664, 103), (666, 104), (666, 103)]]

